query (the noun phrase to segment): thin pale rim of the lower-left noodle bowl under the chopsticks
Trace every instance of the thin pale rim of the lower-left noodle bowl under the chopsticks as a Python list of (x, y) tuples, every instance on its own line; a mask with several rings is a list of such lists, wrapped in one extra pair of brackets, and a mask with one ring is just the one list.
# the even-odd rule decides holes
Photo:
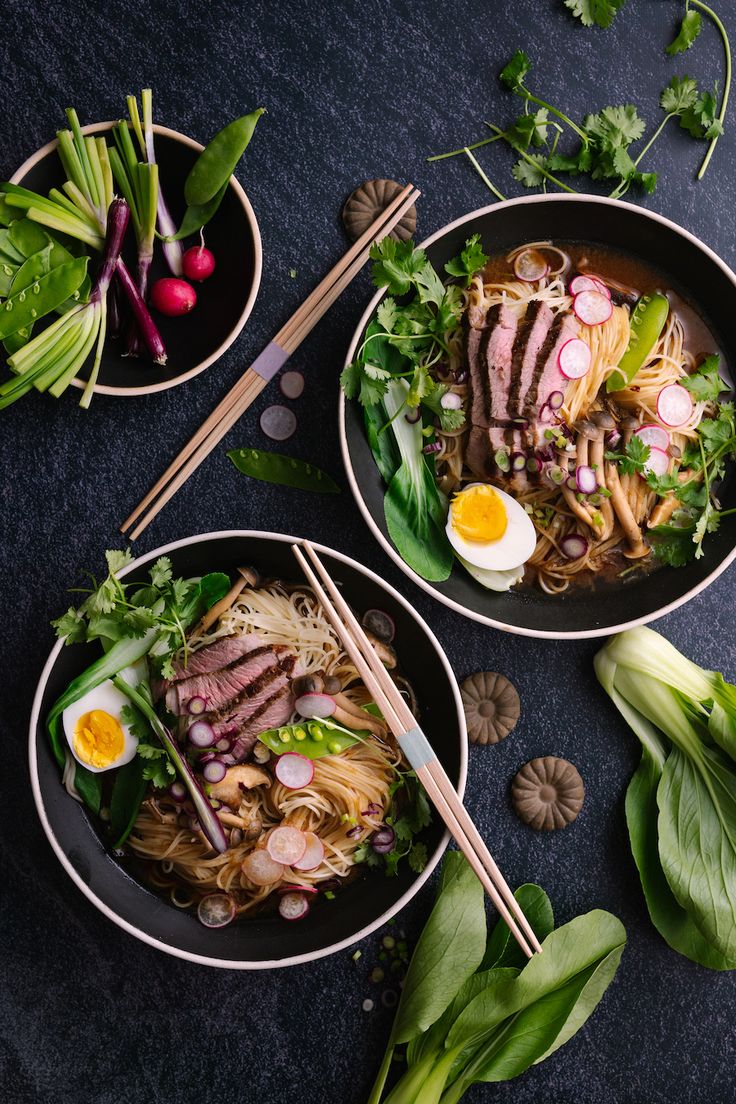
[[(200, 533), (195, 537), (188, 537), (183, 540), (172, 541), (170, 544), (164, 544), (159, 549), (154, 549), (152, 552), (147, 552), (146, 555), (141, 555), (137, 560), (134, 560), (130, 564), (128, 564), (128, 566), (126, 566), (120, 572), (120, 575), (127, 575), (136, 567), (140, 567), (142, 564), (146, 564), (149, 561), (154, 560), (160, 555), (166, 555), (167, 553), (172, 552), (175, 549), (188, 548), (191, 544), (201, 544), (205, 541), (220, 540), (231, 537), (273, 540), (273, 541), (280, 541), (281, 543), (285, 544), (298, 543), (300, 540), (300, 538), (298, 537), (288, 537), (285, 533), (270, 533), (255, 529), (227, 529), (214, 533)], [(360, 574), (365, 575), (372, 582), (377, 583), (378, 586), (381, 586), (384, 591), (386, 591), (386, 593), (390, 594), (395, 602), (397, 602), (401, 606), (404, 607), (404, 609), (406, 609), (409, 616), (414, 618), (419, 628), (428, 637), (429, 643), (437, 652), (439, 660), (442, 667), (445, 668), (445, 671), (447, 672), (447, 677), (450, 683), (450, 689), (455, 700), (455, 708), (458, 714), (458, 728), (460, 731), (460, 777), (458, 781), (457, 793), (460, 799), (462, 799), (462, 796), (465, 794), (466, 782), (468, 778), (468, 737), (466, 731), (465, 712), (462, 709), (462, 701), (460, 699), (460, 691), (458, 690), (457, 679), (455, 678), (452, 668), (450, 667), (449, 660), (445, 655), (439, 644), (439, 640), (437, 639), (433, 630), (429, 628), (427, 623), (424, 620), (424, 618), (416, 612), (416, 609), (413, 608), (410, 603), (406, 598), (404, 598), (398, 593), (398, 591), (395, 591), (390, 583), (386, 583), (385, 580), (381, 578), (380, 575), (376, 575), (375, 572), (371, 571), (370, 567), (364, 567), (362, 564), (358, 563), (356, 560), (353, 560), (351, 556), (345, 555), (343, 552), (338, 552), (335, 549), (328, 548), (326, 544), (316, 544), (314, 542), (312, 542), (312, 544), (318, 550), (318, 552), (322, 552), (326, 555), (329, 555), (332, 559), (338, 560), (340, 563), (346, 564), (349, 567), (352, 567)], [(82, 890), (87, 900), (92, 901), (92, 903), (97, 909), (99, 909), (99, 911), (105, 916), (107, 916), (108, 920), (111, 920), (113, 923), (117, 924), (118, 927), (121, 927), (129, 935), (135, 935), (136, 938), (140, 940), (142, 943), (148, 943), (149, 946), (156, 947), (157, 951), (163, 951), (166, 954), (173, 955), (174, 958), (184, 958), (188, 962), (199, 963), (202, 966), (217, 966), (221, 967), (222, 969), (278, 969), (282, 966), (297, 966), (300, 963), (316, 962), (318, 958), (326, 958), (328, 955), (337, 954), (338, 951), (344, 951), (345, 947), (350, 947), (354, 943), (358, 943), (360, 940), (364, 940), (367, 935), (371, 935), (372, 932), (377, 931), (377, 928), (382, 927), (385, 923), (387, 923), (387, 921), (390, 921), (392, 916), (395, 916), (396, 913), (401, 912), (401, 910), (406, 904), (408, 904), (414, 896), (416, 896), (416, 894), (419, 892), (419, 890), (422, 889), (422, 887), (427, 881), (433, 870), (441, 859), (442, 854), (445, 853), (445, 850), (447, 849), (447, 845), (449, 842), (449, 832), (447, 831), (444, 834), (442, 838), (437, 845), (435, 852), (430, 856), (427, 866), (417, 877), (416, 881), (413, 883), (410, 889), (408, 889), (406, 893), (404, 893), (399, 898), (398, 901), (396, 901), (390, 909), (387, 909), (386, 912), (382, 913), (382, 915), (378, 916), (377, 920), (373, 921), (373, 923), (371, 924), (367, 924), (365, 927), (362, 927), (359, 932), (355, 932), (354, 935), (350, 935), (348, 938), (341, 940), (340, 943), (333, 943), (329, 947), (323, 947), (320, 951), (313, 951), (302, 955), (291, 955), (288, 958), (270, 958), (264, 962), (258, 962), (258, 960), (250, 962), (250, 960), (227, 959), (227, 958), (210, 958), (206, 955), (198, 955), (190, 951), (182, 951), (179, 947), (170, 946), (161, 942), (160, 940), (153, 938), (153, 936), (149, 935), (147, 932), (143, 932), (139, 927), (136, 927), (135, 924), (130, 924), (127, 920), (122, 920), (121, 916), (118, 916), (116, 912), (114, 912), (104, 901), (102, 901), (95, 893), (93, 893), (93, 891), (89, 889), (86, 882), (83, 881), (83, 879), (79, 877), (77, 871), (74, 869), (74, 867), (67, 859), (66, 853), (61, 847), (58, 840), (56, 839), (54, 831), (49, 822), (49, 818), (46, 816), (46, 810), (43, 803), (43, 795), (41, 793), (41, 784), (39, 781), (39, 767), (35, 753), (35, 744), (36, 744), (39, 721), (41, 718), (41, 702), (46, 688), (46, 682), (49, 680), (49, 675), (51, 673), (51, 670), (54, 664), (56, 662), (56, 658), (63, 647), (64, 647), (64, 641), (58, 640), (57, 644), (52, 649), (52, 652), (44, 665), (41, 678), (39, 680), (39, 686), (36, 688), (33, 698), (33, 708), (31, 710), (31, 724), (29, 730), (29, 766), (31, 772), (31, 789), (33, 792), (33, 800), (35, 802), (36, 811), (39, 814), (39, 818), (43, 826), (43, 830), (46, 834), (46, 838), (51, 843), (56, 854), (56, 858), (58, 859), (58, 861), (61, 862), (62, 867), (70, 875), (72, 881), (75, 883), (77, 889)], [(61, 779), (60, 779), (60, 785), (61, 785)]]

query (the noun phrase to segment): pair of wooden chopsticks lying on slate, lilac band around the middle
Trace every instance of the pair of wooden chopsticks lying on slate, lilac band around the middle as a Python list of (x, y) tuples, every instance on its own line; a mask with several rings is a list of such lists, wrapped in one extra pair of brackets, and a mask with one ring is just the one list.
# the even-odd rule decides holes
[(184, 445), (179, 456), (172, 460), (132, 513), (126, 518), (120, 526), (121, 533), (128, 533), (131, 541), (140, 537), (169, 499), (173, 498), (202, 460), (210, 455), (215, 445), (255, 402), (266, 384), (284, 367), (322, 315), (342, 295), (367, 261), (373, 242), (380, 242), (382, 237), (392, 232), (419, 198), (419, 194), (418, 189), (412, 184), (403, 188), (388, 206), (381, 212), (375, 222), (348, 250), (334, 268), (305, 299), (286, 326), (281, 327), (274, 340), (269, 341), (250, 368), (243, 373), (222, 402), (215, 406), (210, 417)]

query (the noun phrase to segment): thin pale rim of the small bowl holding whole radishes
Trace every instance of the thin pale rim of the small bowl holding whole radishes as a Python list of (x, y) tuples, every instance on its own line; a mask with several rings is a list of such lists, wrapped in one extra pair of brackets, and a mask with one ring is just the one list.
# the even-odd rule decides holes
[[(111, 130), (113, 127), (116, 125), (117, 120), (114, 119), (110, 119), (106, 123), (89, 123), (87, 124), (87, 126), (82, 127), (82, 134), (84, 135), (97, 134), (100, 130)], [(196, 149), (200, 151), (204, 149), (204, 146), (202, 146), (201, 142), (194, 141), (194, 139), (190, 138), (189, 135), (182, 135), (180, 134), (179, 130), (172, 130), (171, 127), (162, 127), (158, 123), (153, 124), (153, 134), (164, 135), (167, 138), (173, 138), (175, 141), (181, 142), (182, 146), (189, 146), (190, 149)], [(12, 174), (12, 177), (10, 178), (10, 183), (19, 184), (23, 180), (23, 177), (25, 177), (25, 174), (30, 172), (31, 169), (39, 163), (39, 161), (43, 160), (43, 158), (46, 157), (47, 153), (51, 153), (53, 150), (55, 150), (57, 146), (58, 146), (58, 139), (53, 138), (51, 141), (46, 142), (45, 146), (42, 146), (40, 150), (36, 150), (35, 153), (32, 153), (31, 157), (26, 158), (25, 161), (23, 161), (20, 169), (17, 169), (15, 172)], [(210, 368), (211, 364), (214, 364), (215, 361), (220, 360), (220, 358), (230, 349), (233, 341), (235, 341), (235, 339), (239, 337), (243, 327), (250, 317), (250, 311), (253, 310), (253, 306), (256, 301), (256, 296), (258, 295), (258, 288), (260, 287), (260, 274), (263, 270), (264, 256), (263, 256), (263, 244), (260, 241), (260, 231), (258, 229), (258, 221), (256, 219), (255, 211), (250, 205), (250, 200), (245, 194), (243, 185), (239, 183), (239, 181), (235, 179), (235, 177), (230, 178), (230, 185), (235, 192), (235, 195), (239, 201), (241, 206), (245, 211), (245, 217), (247, 219), (248, 225), (250, 227), (250, 233), (253, 234), (253, 245), (255, 251), (255, 257), (254, 257), (255, 270), (253, 274), (253, 285), (248, 293), (248, 297), (245, 300), (245, 307), (243, 308), (243, 312), (235, 322), (235, 326), (227, 335), (225, 340), (222, 342), (222, 344), (217, 346), (214, 352), (210, 353), (210, 355), (206, 357), (199, 364), (195, 364), (194, 368), (191, 368), (189, 372), (183, 372), (181, 375), (177, 375), (173, 380), (164, 380), (161, 383), (151, 383), (145, 388), (114, 388), (107, 383), (96, 383), (95, 386), (93, 388), (95, 394), (121, 395), (122, 397), (130, 397), (132, 395), (151, 395), (156, 391), (168, 391), (169, 388), (178, 388), (180, 383), (185, 383), (186, 380), (193, 380), (195, 375), (199, 375), (200, 372), (204, 372), (206, 368)], [(78, 388), (79, 390), (84, 390), (84, 388), (86, 386), (86, 380), (81, 380), (78, 376), (75, 376), (72, 380), (72, 386)]]

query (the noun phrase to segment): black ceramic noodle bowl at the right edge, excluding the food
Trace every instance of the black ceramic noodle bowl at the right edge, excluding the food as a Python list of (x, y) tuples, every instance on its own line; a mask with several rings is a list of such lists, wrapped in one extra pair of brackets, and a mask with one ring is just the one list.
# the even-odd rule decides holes
[[(686, 230), (662, 215), (630, 203), (595, 195), (533, 195), (473, 211), (442, 227), (423, 245), (437, 268), (457, 255), (466, 238), (479, 233), (487, 252), (499, 253), (523, 242), (546, 238), (607, 245), (659, 269), (665, 286), (689, 301), (706, 322), (733, 379), (736, 364), (736, 275)], [(348, 352), (350, 363), (363, 340), (383, 293), (363, 315)], [(598, 586), (570, 587), (557, 597), (526, 588), (498, 594), (487, 591), (461, 567), (444, 583), (427, 583), (408, 567), (388, 537), (383, 512), (385, 487), (365, 439), (362, 410), (340, 397), (340, 433), (348, 478), (374, 535), (398, 566), (427, 593), (474, 620), (523, 636), (593, 637), (642, 625), (675, 609), (708, 585), (736, 556), (736, 516), (708, 534), (705, 554), (684, 567), (662, 567), (648, 578)], [(736, 506), (736, 480), (728, 478), (723, 508)]]

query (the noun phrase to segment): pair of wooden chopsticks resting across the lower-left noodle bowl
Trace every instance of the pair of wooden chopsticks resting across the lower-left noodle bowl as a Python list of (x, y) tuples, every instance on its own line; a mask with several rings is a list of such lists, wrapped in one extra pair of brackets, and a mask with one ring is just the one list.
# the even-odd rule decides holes
[[(417, 724), (416, 718), (376, 656), (363, 628), (330, 578), (312, 545), (309, 541), (302, 541), (301, 546), (292, 544), (291, 548), (314, 594), (321, 602), (330, 624), (355, 664), (363, 682), (383, 713), (388, 728), (396, 736), (399, 747), (416, 771), (429, 799), (477, 873), (499, 915), (509, 925), (511, 934), (524, 954), (531, 958), (534, 952), (542, 949), (540, 941), (504, 881), (503, 874), (486, 847), (468, 810), (456, 794), (452, 783), (433, 751), (431, 744)], [(307, 558), (311, 563), (308, 562)]]

